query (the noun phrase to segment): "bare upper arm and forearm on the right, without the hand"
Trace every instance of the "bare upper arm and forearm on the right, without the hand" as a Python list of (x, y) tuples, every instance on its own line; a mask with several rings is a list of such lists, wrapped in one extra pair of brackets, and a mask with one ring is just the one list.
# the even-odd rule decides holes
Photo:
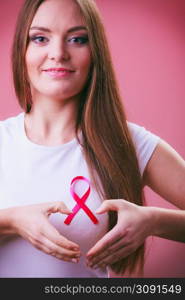
[(165, 141), (156, 147), (143, 176), (144, 185), (181, 208), (149, 207), (152, 235), (185, 242), (185, 161)]

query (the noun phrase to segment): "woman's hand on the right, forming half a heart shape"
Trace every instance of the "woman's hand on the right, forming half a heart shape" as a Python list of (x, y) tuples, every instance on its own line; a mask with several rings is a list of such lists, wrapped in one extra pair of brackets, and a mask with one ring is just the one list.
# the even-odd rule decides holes
[(117, 224), (87, 253), (87, 266), (103, 268), (133, 253), (152, 234), (151, 209), (123, 199), (105, 200), (97, 214), (117, 211)]

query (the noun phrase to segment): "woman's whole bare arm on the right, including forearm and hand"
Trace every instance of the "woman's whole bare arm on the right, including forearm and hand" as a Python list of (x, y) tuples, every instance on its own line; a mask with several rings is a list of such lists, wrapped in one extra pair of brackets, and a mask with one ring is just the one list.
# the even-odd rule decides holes
[(138, 206), (124, 199), (105, 200), (97, 213), (118, 212), (117, 225), (87, 253), (90, 267), (127, 257), (151, 235), (185, 242), (185, 161), (165, 141), (156, 147), (143, 176), (148, 185), (180, 209)]

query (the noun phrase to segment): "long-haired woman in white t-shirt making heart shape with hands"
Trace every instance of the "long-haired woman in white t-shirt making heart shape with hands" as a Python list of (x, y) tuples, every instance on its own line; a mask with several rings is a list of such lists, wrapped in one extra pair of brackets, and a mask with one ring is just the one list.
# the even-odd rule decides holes
[(141, 276), (148, 236), (185, 241), (184, 211), (144, 206), (143, 187), (184, 209), (185, 162), (127, 122), (94, 2), (25, 1), (12, 62), (24, 112), (1, 122), (0, 276)]

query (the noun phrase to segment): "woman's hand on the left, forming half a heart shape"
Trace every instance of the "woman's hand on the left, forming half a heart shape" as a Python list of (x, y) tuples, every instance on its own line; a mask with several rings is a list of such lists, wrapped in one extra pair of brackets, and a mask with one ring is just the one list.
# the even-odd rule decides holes
[(34, 204), (12, 209), (12, 226), (16, 234), (28, 240), (37, 249), (58, 259), (78, 262), (79, 245), (62, 236), (48, 220), (52, 213), (71, 213), (63, 202)]

